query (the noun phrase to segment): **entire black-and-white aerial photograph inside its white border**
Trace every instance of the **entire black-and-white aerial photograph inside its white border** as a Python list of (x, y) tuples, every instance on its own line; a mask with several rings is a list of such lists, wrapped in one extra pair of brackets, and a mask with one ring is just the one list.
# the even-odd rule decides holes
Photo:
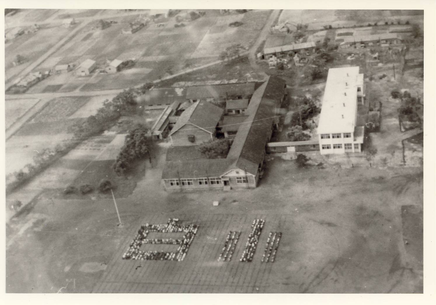
[(4, 27), (6, 293), (423, 293), (424, 10)]

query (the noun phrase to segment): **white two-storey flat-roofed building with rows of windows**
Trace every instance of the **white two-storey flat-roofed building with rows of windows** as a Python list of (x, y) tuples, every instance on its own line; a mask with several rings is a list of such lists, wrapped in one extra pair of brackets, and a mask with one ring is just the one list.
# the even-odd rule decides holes
[(357, 125), (358, 104), (364, 103), (359, 67), (329, 69), (318, 123), (321, 154), (360, 152), (364, 126)]

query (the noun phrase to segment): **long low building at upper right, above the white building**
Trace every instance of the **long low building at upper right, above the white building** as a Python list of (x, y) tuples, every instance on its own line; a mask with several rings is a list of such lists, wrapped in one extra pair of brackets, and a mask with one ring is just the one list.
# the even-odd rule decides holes
[(375, 45), (381, 47), (387, 47), (389, 45), (401, 44), (401, 39), (396, 33), (385, 34), (371, 34), (371, 35), (358, 35), (358, 36), (339, 36), (336, 38), (336, 42), (339, 42), (340, 48), (367, 48)]

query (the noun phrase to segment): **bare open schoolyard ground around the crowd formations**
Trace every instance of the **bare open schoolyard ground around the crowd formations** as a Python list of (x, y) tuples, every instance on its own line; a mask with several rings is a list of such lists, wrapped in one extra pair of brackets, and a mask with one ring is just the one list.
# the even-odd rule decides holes
[[(7, 291), (50, 292), (75, 278), (64, 292), (422, 292), (419, 266), (401, 269), (411, 264), (404, 256), (401, 207), (422, 202), (422, 180), (413, 178), (422, 175), (418, 168), (298, 169), (277, 158), (267, 162), (256, 189), (167, 193), (157, 155), (133, 194), (117, 199), (122, 227), (110, 198), (37, 199), (32, 213), (45, 215), (44, 226), (10, 241)], [(121, 259), (141, 224), (169, 217), (199, 225), (182, 262)], [(254, 260), (241, 263), (258, 218), (266, 225)], [(242, 231), (240, 240), (232, 261), (218, 262), (229, 230)], [(276, 262), (261, 263), (272, 231), (283, 233)], [(422, 235), (408, 238), (419, 243)], [(32, 251), (18, 251), (21, 243)], [(106, 267), (85, 268), (90, 264)]]

